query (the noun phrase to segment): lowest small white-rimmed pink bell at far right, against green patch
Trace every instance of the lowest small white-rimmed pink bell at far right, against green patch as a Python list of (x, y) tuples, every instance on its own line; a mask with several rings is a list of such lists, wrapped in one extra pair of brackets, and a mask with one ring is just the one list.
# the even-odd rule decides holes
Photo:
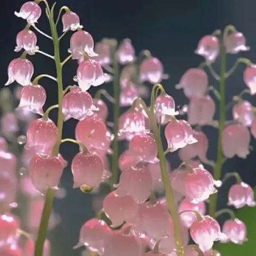
[(227, 236), (221, 243), (227, 243), (229, 241), (235, 244), (243, 244), (248, 239), (246, 237), (246, 226), (240, 219), (228, 219), (224, 222), (222, 232)]

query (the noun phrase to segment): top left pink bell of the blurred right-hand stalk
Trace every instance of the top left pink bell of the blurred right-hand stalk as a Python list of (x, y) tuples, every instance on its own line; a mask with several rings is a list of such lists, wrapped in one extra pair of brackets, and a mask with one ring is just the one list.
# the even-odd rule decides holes
[(212, 35), (202, 37), (195, 53), (203, 56), (207, 62), (214, 62), (219, 54), (219, 39)]

